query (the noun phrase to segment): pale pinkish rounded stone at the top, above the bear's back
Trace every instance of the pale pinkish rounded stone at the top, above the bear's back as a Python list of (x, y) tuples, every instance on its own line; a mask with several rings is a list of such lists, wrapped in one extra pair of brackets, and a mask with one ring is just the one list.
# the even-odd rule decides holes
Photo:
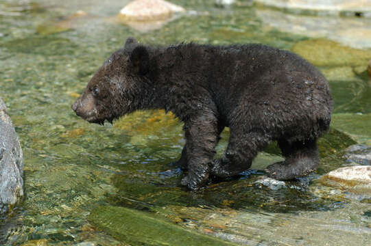
[(163, 0), (134, 0), (120, 11), (126, 20), (149, 21), (171, 17), (174, 12), (183, 12), (184, 8)]

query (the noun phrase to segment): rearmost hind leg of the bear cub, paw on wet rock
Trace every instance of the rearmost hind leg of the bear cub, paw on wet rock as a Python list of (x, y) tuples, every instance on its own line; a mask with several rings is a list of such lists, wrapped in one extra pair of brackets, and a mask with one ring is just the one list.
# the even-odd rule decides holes
[(316, 139), (306, 139), (289, 143), (279, 140), (285, 161), (269, 165), (266, 169), (268, 176), (276, 180), (291, 180), (306, 176), (313, 172), (319, 163)]

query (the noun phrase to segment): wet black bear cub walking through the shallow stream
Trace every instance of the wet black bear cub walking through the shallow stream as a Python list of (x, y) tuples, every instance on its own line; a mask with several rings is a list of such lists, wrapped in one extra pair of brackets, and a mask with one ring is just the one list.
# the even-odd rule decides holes
[[(72, 105), (103, 124), (139, 109), (172, 111), (184, 122), (182, 184), (198, 189), (235, 176), (271, 141), (285, 161), (268, 176), (289, 180), (318, 166), (316, 140), (328, 131), (333, 102), (324, 76), (289, 51), (261, 44), (145, 46), (128, 38)], [(214, 159), (224, 127), (228, 147)]]

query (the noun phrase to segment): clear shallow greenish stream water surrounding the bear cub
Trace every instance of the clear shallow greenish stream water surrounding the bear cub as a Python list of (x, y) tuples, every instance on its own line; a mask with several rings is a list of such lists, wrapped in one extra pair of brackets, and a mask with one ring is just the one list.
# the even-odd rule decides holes
[[(94, 219), (108, 205), (156, 213), (174, 225), (240, 245), (370, 243), (371, 195), (318, 181), (346, 165), (331, 154), (339, 150), (332, 143), (316, 174), (287, 182), (286, 188), (255, 183), (263, 175), (256, 169), (280, 160), (260, 154), (254, 171), (190, 193), (180, 187), (182, 174), (170, 164), (184, 143), (182, 124), (171, 115), (139, 112), (104, 127), (77, 118), (71, 103), (128, 36), (147, 44), (260, 42), (280, 49), (297, 45), (299, 51), (310, 40), (265, 24), (246, 1), (224, 9), (213, 1), (173, 1), (197, 12), (141, 33), (112, 21), (126, 2), (0, 0), (0, 96), (21, 139), (26, 193), (20, 208), (1, 221), (0, 244), (130, 243)], [(346, 50), (351, 52), (358, 51)], [(318, 66), (333, 90), (333, 126), (371, 145), (367, 64), (330, 58)], [(219, 153), (227, 139), (225, 131)]]

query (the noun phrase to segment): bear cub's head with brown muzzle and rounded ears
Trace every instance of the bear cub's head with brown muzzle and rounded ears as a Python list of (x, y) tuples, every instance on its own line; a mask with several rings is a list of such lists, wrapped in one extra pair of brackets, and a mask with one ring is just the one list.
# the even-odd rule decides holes
[(149, 53), (128, 38), (123, 49), (113, 53), (95, 72), (73, 111), (91, 123), (104, 124), (121, 115), (145, 108), (150, 92)]

